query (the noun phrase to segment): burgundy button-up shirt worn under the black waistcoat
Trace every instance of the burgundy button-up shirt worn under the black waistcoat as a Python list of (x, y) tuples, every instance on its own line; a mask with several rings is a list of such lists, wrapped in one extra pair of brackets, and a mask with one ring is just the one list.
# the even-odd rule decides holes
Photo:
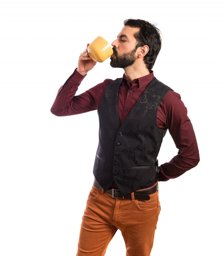
[[(51, 108), (54, 115), (76, 115), (98, 109), (103, 92), (112, 80), (106, 79), (103, 83), (99, 83), (76, 96), (78, 86), (84, 78), (85, 76), (75, 70), (58, 90)], [(134, 79), (132, 85), (130, 85), (129, 81), (123, 76), (118, 95), (118, 112), (121, 124), (153, 78), (154, 74), (152, 72), (147, 76)], [(179, 149), (178, 154), (170, 162), (159, 166), (159, 181), (176, 178), (195, 167), (199, 162), (195, 132), (188, 118), (187, 109), (178, 93), (170, 90), (164, 96), (157, 111), (157, 126), (161, 130), (169, 130), (176, 147)]]

